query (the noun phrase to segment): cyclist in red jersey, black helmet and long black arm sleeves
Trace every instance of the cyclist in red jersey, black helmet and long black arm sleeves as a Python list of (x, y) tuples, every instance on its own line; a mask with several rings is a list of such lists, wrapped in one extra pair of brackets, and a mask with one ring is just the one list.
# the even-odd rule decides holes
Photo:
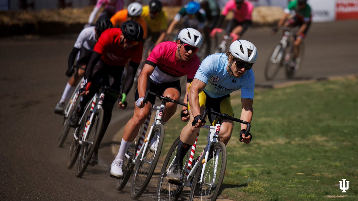
[[(68, 124), (71, 127), (78, 126), (78, 120), (83, 114), (83, 110), (89, 100), (98, 91), (95, 85), (107, 85), (111, 89), (120, 90), (122, 85), (122, 72), (124, 65), (130, 60), (127, 70), (127, 78), (122, 87), (122, 92), (128, 94), (133, 85), (133, 79), (140, 60), (142, 59), (143, 46), (140, 42), (143, 39), (143, 28), (135, 21), (128, 20), (122, 24), (122, 28), (111, 28), (103, 31), (98, 39), (93, 53), (84, 73), (84, 87), (81, 89), (83, 97), (79, 103), (78, 109), (69, 118)], [(93, 69), (98, 69), (93, 74)], [(92, 75), (93, 74), (93, 75)], [(110, 78), (113, 78), (110, 79)], [(118, 95), (108, 94), (103, 100), (103, 129), (100, 133), (99, 143), (106, 132), (108, 124), (111, 121), (113, 104), (118, 99)], [(126, 103), (122, 103), (121, 99), (118, 107), (124, 109)], [(92, 166), (98, 164), (98, 147), (91, 161)]]

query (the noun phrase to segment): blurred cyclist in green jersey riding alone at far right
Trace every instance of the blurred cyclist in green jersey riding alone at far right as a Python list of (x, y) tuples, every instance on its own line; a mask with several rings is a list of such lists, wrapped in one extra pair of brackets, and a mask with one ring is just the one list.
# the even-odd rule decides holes
[[(289, 15), (294, 12), (294, 17), (290, 20), (286, 19)], [(307, 31), (311, 25), (312, 20), (312, 12), (311, 6), (307, 4), (307, 0), (293, 0), (290, 1), (289, 5), (285, 9), (285, 15), (282, 16), (277, 26), (272, 29), (271, 34), (276, 34), (277, 30), (280, 26), (300, 26), (298, 31), (296, 32), (295, 42), (294, 42), (294, 55), (293, 55), (293, 62), (291, 67), (296, 66), (296, 58), (300, 53), (300, 44), (302, 43), (303, 39), (305, 38)]]

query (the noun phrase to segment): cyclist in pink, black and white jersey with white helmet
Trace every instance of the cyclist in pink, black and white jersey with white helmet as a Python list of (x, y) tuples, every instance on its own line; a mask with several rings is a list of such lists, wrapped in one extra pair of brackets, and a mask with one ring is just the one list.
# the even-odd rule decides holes
[[(141, 124), (149, 115), (156, 97), (150, 97), (147, 103), (143, 102), (145, 92), (151, 92), (168, 96), (171, 99), (180, 99), (180, 82), (182, 76), (187, 75), (186, 93), (184, 103), (187, 103), (188, 87), (197, 72), (200, 61), (195, 54), (202, 44), (202, 35), (196, 29), (185, 28), (180, 31), (176, 42), (166, 41), (159, 43), (147, 58), (143, 70), (138, 78), (138, 88), (136, 90), (133, 117), (127, 122), (118, 155), (112, 162), (111, 175), (115, 177), (123, 176), (123, 161), (125, 153), (136, 138)], [(187, 110), (187, 107), (183, 107)], [(175, 103), (167, 103), (162, 118), (165, 124), (176, 111)], [(187, 112), (184, 112), (188, 114)], [(188, 117), (183, 117), (182, 121), (188, 121)]]

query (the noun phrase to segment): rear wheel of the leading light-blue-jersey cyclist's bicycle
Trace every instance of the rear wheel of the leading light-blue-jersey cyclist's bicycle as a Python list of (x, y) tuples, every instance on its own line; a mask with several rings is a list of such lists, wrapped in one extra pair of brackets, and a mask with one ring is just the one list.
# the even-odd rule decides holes
[[(172, 163), (174, 162), (176, 152), (178, 150), (179, 137), (176, 138), (173, 145), (171, 145), (168, 154), (165, 157), (163, 166), (160, 171), (157, 190), (156, 190), (156, 199), (155, 200), (178, 200), (180, 194), (183, 191), (182, 183), (172, 182), (171, 180), (166, 179), (166, 173), (168, 173)], [(184, 166), (185, 167), (185, 166)], [(184, 168), (186, 170), (186, 167)], [(184, 171), (182, 171), (182, 174)]]

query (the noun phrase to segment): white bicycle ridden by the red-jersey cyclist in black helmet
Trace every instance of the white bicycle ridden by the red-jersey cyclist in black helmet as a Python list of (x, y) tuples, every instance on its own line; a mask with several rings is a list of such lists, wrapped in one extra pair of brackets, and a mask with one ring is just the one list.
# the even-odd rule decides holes
[[(82, 117), (78, 121), (78, 127), (73, 133), (72, 143), (69, 148), (67, 167), (72, 168), (77, 160), (76, 177), (82, 177), (86, 171), (93, 151), (99, 146), (99, 136), (102, 130), (104, 111), (102, 108), (106, 92), (122, 94), (107, 86), (98, 85), (97, 92), (84, 109)], [(122, 102), (125, 102), (125, 94), (122, 94)]]

